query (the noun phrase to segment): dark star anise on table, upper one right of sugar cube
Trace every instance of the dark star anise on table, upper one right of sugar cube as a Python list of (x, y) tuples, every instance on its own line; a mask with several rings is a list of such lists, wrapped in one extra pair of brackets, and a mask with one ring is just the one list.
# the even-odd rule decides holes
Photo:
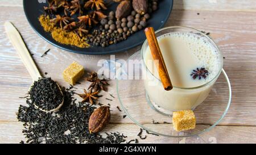
[(100, 91), (100, 90), (105, 90), (104, 85), (109, 85), (108, 82), (106, 82), (105, 78), (98, 78), (98, 74), (96, 72), (92, 72), (90, 73), (90, 77), (87, 78), (87, 81), (92, 82), (92, 84), (90, 84), (90, 86), (88, 87), (88, 89), (93, 89), (94, 91)]

